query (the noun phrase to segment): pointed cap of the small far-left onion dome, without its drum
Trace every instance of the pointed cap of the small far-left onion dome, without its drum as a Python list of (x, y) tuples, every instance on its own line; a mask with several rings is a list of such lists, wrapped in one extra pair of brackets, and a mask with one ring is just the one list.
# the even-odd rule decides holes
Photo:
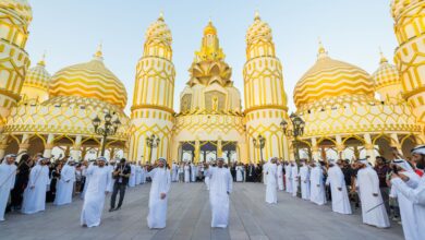
[(45, 56), (36, 67), (29, 69), (25, 74), (24, 86), (33, 86), (41, 89), (48, 89), (51, 75), (46, 70)]

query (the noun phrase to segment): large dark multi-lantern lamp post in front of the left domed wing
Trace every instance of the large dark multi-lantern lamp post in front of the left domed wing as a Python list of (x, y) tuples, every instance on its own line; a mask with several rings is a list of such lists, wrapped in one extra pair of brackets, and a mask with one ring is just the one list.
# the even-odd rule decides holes
[(98, 116), (92, 120), (92, 124), (95, 127), (95, 133), (102, 136), (100, 156), (105, 156), (107, 139), (108, 136), (114, 135), (117, 133), (118, 128), (121, 125), (120, 119), (117, 118), (114, 121), (112, 121), (111, 113), (107, 112), (105, 115), (105, 122), (102, 127), (100, 127), (101, 120)]

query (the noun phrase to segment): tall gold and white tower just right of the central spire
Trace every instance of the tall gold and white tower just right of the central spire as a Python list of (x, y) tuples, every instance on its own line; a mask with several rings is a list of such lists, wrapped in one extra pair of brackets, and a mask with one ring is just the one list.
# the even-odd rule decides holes
[[(260, 151), (253, 139), (265, 137), (263, 159), (289, 159), (288, 140), (280, 122), (288, 120), (287, 94), (283, 87), (282, 64), (275, 53), (271, 28), (255, 14), (246, 34), (246, 63), (243, 70), (246, 141), (251, 161), (260, 160)], [(257, 141), (258, 142), (258, 141)]]

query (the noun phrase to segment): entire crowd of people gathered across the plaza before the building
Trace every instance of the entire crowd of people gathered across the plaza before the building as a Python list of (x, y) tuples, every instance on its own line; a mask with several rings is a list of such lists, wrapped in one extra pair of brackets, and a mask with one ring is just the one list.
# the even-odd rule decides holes
[(84, 199), (82, 226), (98, 226), (107, 193), (112, 193), (109, 212), (119, 211), (127, 187), (151, 182), (148, 227), (165, 228), (171, 182), (204, 181), (210, 196), (211, 227), (226, 228), (232, 182), (245, 181), (263, 182), (269, 204), (277, 204), (277, 192), (284, 191), (317, 205), (331, 202), (339, 214), (361, 207), (366, 225), (388, 228), (392, 219), (402, 224), (408, 240), (425, 239), (421, 230), (425, 227), (425, 145), (413, 148), (410, 159), (394, 149), (393, 159), (377, 157), (375, 166), (367, 158), (296, 163), (272, 157), (258, 165), (227, 165), (217, 158), (209, 164), (173, 161), (168, 166), (165, 158), (142, 165), (124, 158), (76, 163), (65, 157), (50, 163), (41, 154), (20, 157), (16, 163), (16, 155), (7, 155), (0, 165), (0, 220), (8, 212), (35, 214), (45, 211), (46, 202), (60, 206), (80, 195)]

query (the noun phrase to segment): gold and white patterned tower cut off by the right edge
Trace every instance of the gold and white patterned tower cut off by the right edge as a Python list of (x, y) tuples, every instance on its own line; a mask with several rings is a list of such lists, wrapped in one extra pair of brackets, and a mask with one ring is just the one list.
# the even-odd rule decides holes
[(425, 1), (393, 0), (394, 32), (399, 47), (394, 62), (400, 72), (404, 98), (420, 123), (425, 123)]

